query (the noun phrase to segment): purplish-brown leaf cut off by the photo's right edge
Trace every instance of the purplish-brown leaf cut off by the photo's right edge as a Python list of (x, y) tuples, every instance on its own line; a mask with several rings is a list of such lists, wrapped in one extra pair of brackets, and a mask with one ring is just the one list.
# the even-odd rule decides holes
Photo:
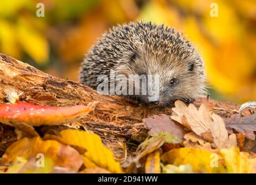
[(256, 131), (256, 114), (246, 117), (239, 117), (239, 114), (233, 114), (225, 122), (226, 128), (233, 128), (237, 132), (245, 134), (246, 138), (255, 140), (254, 131)]

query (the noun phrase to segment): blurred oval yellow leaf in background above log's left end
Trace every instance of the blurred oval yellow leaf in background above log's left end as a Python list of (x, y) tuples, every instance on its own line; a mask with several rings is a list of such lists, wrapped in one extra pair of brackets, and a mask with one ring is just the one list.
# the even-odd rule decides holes
[(24, 51), (39, 65), (49, 60), (49, 45), (43, 35), (27, 21), (20, 18), (17, 23), (17, 36)]

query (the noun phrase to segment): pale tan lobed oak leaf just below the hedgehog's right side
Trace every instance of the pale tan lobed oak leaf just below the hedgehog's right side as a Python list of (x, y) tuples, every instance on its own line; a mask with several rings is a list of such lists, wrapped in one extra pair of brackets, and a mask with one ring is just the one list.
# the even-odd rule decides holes
[(197, 135), (204, 138), (204, 134), (210, 131), (218, 149), (236, 146), (236, 135), (228, 136), (224, 120), (217, 114), (210, 113), (206, 105), (202, 104), (198, 110), (192, 103), (186, 106), (184, 102), (178, 100), (172, 110), (177, 115), (173, 114), (171, 119), (190, 128)]

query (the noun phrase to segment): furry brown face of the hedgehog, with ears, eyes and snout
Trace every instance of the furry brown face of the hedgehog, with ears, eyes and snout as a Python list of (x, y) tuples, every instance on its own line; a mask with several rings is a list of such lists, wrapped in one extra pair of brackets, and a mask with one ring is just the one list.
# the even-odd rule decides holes
[(140, 88), (140, 94), (130, 97), (143, 103), (168, 106), (177, 99), (192, 102), (204, 91), (205, 78), (200, 71), (202, 61), (198, 54), (194, 51), (186, 54), (185, 57), (179, 57), (171, 50), (166, 52), (151, 47), (138, 47), (136, 53), (133, 51), (126, 64), (120, 65), (117, 71), (126, 76), (137, 75), (131, 82), (133, 87)]

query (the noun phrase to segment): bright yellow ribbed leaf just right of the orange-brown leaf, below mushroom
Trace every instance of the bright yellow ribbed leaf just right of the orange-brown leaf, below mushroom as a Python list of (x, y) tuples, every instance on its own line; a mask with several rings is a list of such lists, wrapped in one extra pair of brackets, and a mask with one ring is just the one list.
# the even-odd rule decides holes
[(122, 173), (121, 166), (115, 161), (113, 152), (103, 145), (100, 136), (76, 129), (65, 129), (60, 132), (60, 135), (69, 145), (84, 147), (87, 150), (83, 154), (85, 165), (88, 166), (90, 161), (90, 167), (94, 163), (111, 173)]

